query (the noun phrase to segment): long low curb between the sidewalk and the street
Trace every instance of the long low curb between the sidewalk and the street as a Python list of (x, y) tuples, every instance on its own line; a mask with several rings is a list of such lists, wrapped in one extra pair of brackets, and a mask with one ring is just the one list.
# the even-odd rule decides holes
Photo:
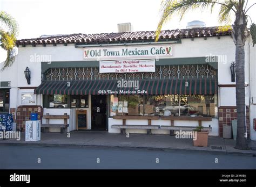
[(227, 150), (200, 150), (187, 148), (166, 148), (166, 147), (146, 147), (146, 146), (117, 146), (117, 145), (96, 145), (96, 144), (69, 144), (69, 143), (0, 143), (0, 146), (42, 146), (42, 147), (82, 147), (82, 148), (114, 148), (114, 149), (142, 149), (156, 151), (180, 151), (180, 152), (201, 152), (239, 156), (256, 156), (256, 153), (231, 152)]

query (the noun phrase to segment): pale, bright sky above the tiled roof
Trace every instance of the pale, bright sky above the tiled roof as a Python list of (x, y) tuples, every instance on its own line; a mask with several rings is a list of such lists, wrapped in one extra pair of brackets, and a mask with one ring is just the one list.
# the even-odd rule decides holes
[[(250, 0), (250, 4), (256, 0)], [(130, 22), (133, 31), (154, 31), (160, 18), (161, 0), (0, 0), (0, 10), (19, 24), (18, 39), (43, 34), (117, 32), (118, 23)], [(256, 6), (248, 12), (256, 21)], [(173, 17), (163, 29), (185, 28), (192, 20), (217, 26), (218, 9), (188, 12), (182, 21)], [(0, 51), (0, 62), (5, 53)]]

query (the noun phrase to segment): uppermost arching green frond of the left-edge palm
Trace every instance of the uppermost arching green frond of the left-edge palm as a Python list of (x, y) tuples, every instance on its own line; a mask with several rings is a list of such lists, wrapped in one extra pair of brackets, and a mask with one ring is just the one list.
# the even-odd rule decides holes
[(8, 13), (0, 11), (0, 23), (5, 24), (8, 28), (8, 32), (15, 35), (18, 35), (18, 24), (14, 18), (12, 18)]

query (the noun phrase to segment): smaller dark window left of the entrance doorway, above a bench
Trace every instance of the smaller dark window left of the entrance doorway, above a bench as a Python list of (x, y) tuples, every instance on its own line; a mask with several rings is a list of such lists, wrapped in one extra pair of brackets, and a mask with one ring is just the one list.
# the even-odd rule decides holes
[(88, 105), (87, 95), (44, 95), (46, 108), (85, 108)]

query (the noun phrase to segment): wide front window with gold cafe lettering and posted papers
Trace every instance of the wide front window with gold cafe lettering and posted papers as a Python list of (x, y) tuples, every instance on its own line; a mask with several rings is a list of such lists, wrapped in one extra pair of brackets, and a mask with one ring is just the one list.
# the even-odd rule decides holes
[(112, 95), (110, 106), (110, 116), (218, 116), (217, 95)]

